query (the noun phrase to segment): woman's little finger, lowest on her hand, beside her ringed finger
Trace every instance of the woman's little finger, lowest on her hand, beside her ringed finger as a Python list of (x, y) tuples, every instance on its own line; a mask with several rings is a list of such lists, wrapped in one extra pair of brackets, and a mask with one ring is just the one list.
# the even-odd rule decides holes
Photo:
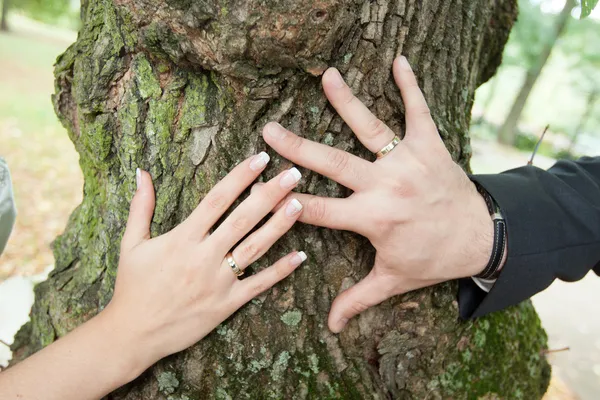
[(288, 277), (304, 261), (306, 261), (306, 254), (303, 251), (294, 252), (258, 274), (234, 282), (232, 293), (235, 296), (233, 304), (236, 309)]

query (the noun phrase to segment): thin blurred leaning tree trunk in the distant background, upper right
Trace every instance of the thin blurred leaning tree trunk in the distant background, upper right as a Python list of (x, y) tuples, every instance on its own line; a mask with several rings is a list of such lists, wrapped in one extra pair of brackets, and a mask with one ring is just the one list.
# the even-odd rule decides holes
[(527, 99), (535, 86), (538, 78), (542, 73), (542, 69), (546, 65), (548, 58), (550, 58), (550, 53), (552, 53), (552, 49), (554, 45), (558, 41), (558, 38), (565, 30), (569, 19), (571, 18), (571, 12), (577, 5), (576, 0), (567, 0), (565, 6), (562, 11), (558, 15), (556, 19), (556, 25), (554, 26), (554, 32), (552, 36), (548, 39), (548, 42), (542, 49), (542, 52), (538, 56), (537, 61), (527, 70), (525, 74), (525, 81), (519, 90), (519, 94), (517, 95), (515, 102), (513, 103), (504, 124), (500, 128), (498, 132), (498, 141), (503, 144), (514, 145), (515, 138), (517, 136), (517, 128), (519, 119), (521, 119), (521, 114), (525, 109), (525, 105), (527, 104)]

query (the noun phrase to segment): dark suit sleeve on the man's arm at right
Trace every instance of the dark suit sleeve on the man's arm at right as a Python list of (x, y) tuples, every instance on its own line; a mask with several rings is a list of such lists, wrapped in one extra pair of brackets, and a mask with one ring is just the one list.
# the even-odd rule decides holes
[(526, 166), (474, 175), (506, 220), (507, 260), (489, 293), (472, 279), (459, 282), (462, 318), (475, 318), (526, 300), (558, 278), (600, 275), (600, 157), (559, 161), (548, 171)]

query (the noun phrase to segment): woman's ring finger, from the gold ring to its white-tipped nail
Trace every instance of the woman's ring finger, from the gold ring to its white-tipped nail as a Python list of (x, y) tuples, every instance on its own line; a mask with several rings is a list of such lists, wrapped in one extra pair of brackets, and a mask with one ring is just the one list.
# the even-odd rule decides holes
[[(282, 237), (302, 213), (302, 204), (295, 198), (286, 201), (269, 221), (244, 239), (232, 252), (238, 267), (246, 269), (262, 257)], [(227, 265), (229, 268), (229, 265)]]

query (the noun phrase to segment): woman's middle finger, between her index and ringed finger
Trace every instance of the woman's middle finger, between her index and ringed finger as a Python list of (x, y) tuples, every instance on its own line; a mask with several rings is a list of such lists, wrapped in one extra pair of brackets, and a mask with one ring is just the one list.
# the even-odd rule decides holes
[(265, 183), (262, 190), (251, 193), (207, 240), (226, 253), (267, 215), (293, 188), (302, 175), (291, 168)]

